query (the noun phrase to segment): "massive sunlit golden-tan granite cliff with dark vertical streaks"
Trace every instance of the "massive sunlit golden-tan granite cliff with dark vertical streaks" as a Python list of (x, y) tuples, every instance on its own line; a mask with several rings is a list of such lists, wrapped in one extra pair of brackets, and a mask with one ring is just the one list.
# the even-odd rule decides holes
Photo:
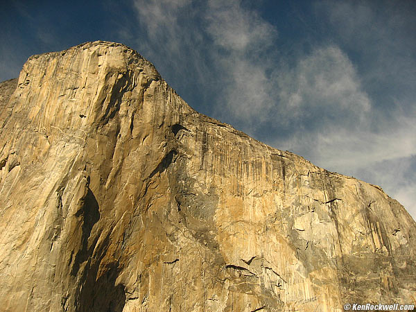
[(414, 304), (404, 207), (195, 112), (128, 47), (35, 55), (15, 86), (0, 85), (3, 311)]

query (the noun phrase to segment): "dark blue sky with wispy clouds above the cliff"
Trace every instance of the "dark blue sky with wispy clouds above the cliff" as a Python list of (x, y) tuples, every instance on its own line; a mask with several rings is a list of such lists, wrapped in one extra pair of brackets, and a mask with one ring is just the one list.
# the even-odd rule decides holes
[(9, 1), (0, 80), (121, 42), (193, 108), (378, 184), (416, 218), (416, 1)]

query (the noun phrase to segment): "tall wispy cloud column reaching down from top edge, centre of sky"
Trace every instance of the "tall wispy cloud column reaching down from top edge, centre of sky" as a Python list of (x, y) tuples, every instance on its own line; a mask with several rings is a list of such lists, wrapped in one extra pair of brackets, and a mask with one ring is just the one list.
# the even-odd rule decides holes
[(275, 43), (277, 30), (240, 1), (209, 1), (205, 21), (213, 40), (211, 53), (225, 81), (218, 96), (225, 106), (216, 114), (232, 114), (234, 120), (245, 121), (250, 132), (253, 122), (265, 121), (274, 103), (274, 86), (267, 74), (271, 64), (259, 55)]

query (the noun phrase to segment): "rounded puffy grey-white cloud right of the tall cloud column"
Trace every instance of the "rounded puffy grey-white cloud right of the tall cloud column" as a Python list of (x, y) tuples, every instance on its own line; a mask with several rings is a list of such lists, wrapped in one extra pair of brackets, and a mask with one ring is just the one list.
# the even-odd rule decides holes
[(363, 92), (352, 62), (338, 46), (315, 49), (293, 69), (279, 69), (276, 74), (281, 114), (288, 121), (327, 116), (329, 119), (309, 125), (320, 128), (333, 122), (340, 126), (340, 122), (352, 120), (357, 125), (370, 111), (370, 98)]

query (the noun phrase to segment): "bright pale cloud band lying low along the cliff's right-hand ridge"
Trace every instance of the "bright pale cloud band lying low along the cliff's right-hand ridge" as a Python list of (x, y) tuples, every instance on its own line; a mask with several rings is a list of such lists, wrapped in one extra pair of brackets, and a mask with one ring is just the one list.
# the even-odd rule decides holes
[[(297, 132), (279, 145), (308, 153), (313, 161), (333, 171), (349, 173), (375, 162), (416, 155), (416, 125), (413, 118), (401, 118), (383, 132), (337, 128), (325, 125), (312, 132)], [(407, 125), (407, 126), (406, 126)], [(414, 136), (414, 137), (413, 137)]]

